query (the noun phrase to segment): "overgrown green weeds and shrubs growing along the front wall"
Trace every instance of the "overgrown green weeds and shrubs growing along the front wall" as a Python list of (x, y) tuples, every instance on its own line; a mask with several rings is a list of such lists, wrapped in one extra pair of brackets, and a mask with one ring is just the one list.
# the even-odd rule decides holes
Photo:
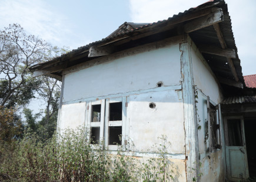
[[(42, 143), (27, 134), (15, 147), (1, 147), (0, 181), (170, 181), (164, 143), (160, 158), (143, 163), (128, 152), (117, 155), (88, 144), (84, 131), (67, 130)], [(166, 141), (165, 138), (162, 138)], [(92, 147), (94, 149), (92, 149)], [(171, 172), (172, 173), (172, 172)]]

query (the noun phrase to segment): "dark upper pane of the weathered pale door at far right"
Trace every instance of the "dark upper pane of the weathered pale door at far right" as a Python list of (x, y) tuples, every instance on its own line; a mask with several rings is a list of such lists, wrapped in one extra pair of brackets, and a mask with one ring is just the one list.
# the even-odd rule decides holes
[(241, 120), (229, 119), (227, 122), (229, 146), (242, 146)]

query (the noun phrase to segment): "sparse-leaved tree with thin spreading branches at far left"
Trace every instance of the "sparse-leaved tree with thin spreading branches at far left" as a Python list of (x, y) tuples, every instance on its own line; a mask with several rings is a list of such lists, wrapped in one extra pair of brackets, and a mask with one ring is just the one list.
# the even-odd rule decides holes
[(1, 106), (29, 103), (39, 81), (32, 79), (28, 68), (44, 62), (49, 50), (49, 43), (34, 35), (26, 35), (18, 24), (9, 25), (0, 31)]

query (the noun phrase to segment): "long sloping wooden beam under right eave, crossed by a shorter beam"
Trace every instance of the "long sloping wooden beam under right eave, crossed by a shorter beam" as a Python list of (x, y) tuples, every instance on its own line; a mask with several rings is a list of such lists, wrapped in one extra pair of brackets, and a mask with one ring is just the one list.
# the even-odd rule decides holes
[[(221, 48), (222, 49), (227, 49), (227, 44), (226, 44), (226, 42), (224, 40), (224, 37), (222, 35), (220, 25), (218, 23), (215, 23), (213, 26), (214, 26), (214, 29), (217, 33), (218, 39), (221, 43)], [(231, 58), (227, 58), (227, 62), (228, 62), (228, 65), (230, 65), (230, 69), (231, 69), (231, 72), (232, 72), (232, 74), (235, 78), (235, 81), (238, 82), (239, 79), (238, 79), (238, 76), (237, 76), (237, 71), (235, 70), (233, 60)]]

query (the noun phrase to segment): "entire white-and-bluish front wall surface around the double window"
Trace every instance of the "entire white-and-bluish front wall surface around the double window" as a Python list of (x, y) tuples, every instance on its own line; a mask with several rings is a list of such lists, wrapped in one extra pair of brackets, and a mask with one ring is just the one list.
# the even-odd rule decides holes
[[(89, 101), (128, 96), (126, 126), (135, 144), (132, 150), (138, 156), (147, 156), (148, 150), (157, 151), (152, 147), (161, 144), (158, 137), (167, 136), (171, 143), (168, 153), (177, 160), (176, 181), (185, 181), (181, 80), (179, 43), (68, 73), (58, 126), (65, 129), (83, 125)], [(159, 81), (164, 83), (162, 87), (157, 87)], [(151, 102), (155, 109), (149, 108)]]

